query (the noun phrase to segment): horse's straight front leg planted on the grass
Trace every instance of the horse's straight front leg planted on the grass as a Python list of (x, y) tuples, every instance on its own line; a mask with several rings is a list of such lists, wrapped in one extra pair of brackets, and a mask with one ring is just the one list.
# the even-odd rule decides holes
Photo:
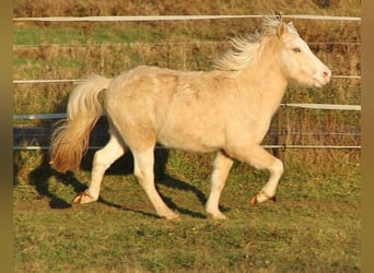
[(233, 159), (231, 159), (225, 154), (223, 154), (223, 152), (220, 151), (214, 159), (213, 173), (211, 177), (211, 190), (208, 202), (206, 204), (207, 216), (210, 218), (226, 218), (226, 216), (220, 212), (219, 201), (232, 166)]

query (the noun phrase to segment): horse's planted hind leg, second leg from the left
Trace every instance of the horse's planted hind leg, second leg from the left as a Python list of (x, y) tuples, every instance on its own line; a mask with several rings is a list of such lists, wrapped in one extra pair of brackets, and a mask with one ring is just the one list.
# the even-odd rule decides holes
[(137, 177), (139, 183), (144, 189), (148, 198), (152, 202), (156, 213), (160, 217), (167, 219), (178, 219), (179, 216), (172, 212), (164, 201), (161, 199), (159, 192), (154, 186), (154, 146), (148, 150), (137, 152), (132, 151), (133, 155), (133, 174)]

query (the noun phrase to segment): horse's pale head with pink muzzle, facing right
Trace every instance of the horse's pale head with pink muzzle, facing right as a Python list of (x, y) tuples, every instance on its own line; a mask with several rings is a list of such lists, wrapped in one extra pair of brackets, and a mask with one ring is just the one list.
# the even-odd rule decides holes
[(312, 52), (292, 23), (280, 23), (280, 68), (289, 81), (320, 87), (330, 81), (331, 71)]

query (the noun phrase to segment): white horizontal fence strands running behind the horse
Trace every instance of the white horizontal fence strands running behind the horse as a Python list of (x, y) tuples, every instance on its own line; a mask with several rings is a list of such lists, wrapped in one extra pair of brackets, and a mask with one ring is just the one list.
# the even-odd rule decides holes
[[(13, 19), (14, 23), (17, 22), (143, 22), (143, 21), (195, 21), (195, 20), (222, 20), (222, 19), (261, 19), (268, 15), (155, 15), (155, 16), (84, 16), (84, 17), (15, 17)], [(306, 15), (306, 14), (295, 14), (295, 15), (282, 15), (285, 19), (297, 19), (297, 20), (324, 20), (324, 21), (348, 21), (348, 22), (358, 22), (361, 23), (361, 17), (351, 17), (351, 16), (330, 16), (330, 15)], [(222, 43), (222, 41), (198, 41), (200, 44), (207, 43)], [(155, 43), (156, 45), (160, 43)], [(152, 45), (155, 45), (152, 44)], [(196, 44), (196, 41), (191, 43), (175, 43), (175, 44)], [(360, 41), (314, 41), (308, 44), (315, 45), (361, 45)], [(84, 46), (85, 44), (57, 44), (49, 46)], [(96, 45), (96, 44), (95, 44)], [(114, 45), (110, 43), (97, 44), (100, 46), (103, 45)], [(138, 44), (133, 44), (138, 45)], [(164, 44), (163, 44), (164, 45)], [(31, 48), (31, 47), (39, 47), (46, 45), (15, 45), (14, 47), (20, 48)], [(361, 75), (332, 75), (334, 79), (349, 79), (349, 80), (361, 80)], [(81, 82), (81, 79), (30, 79), (30, 80), (14, 80), (13, 84), (51, 84), (51, 83), (78, 83)], [(331, 105), (331, 104), (281, 104), (281, 108), (293, 107), (293, 108), (304, 108), (304, 109), (322, 109), (322, 110), (349, 110), (349, 111), (361, 111), (361, 105)], [(105, 115), (103, 115), (105, 116)], [(65, 119), (67, 115), (63, 112), (59, 114), (22, 114), (22, 115), (13, 115), (14, 121), (20, 120), (55, 120), (55, 119)], [(17, 130), (15, 127), (14, 130)], [(22, 134), (27, 134), (24, 129), (19, 128), (17, 133), (15, 133), (15, 138), (22, 136)], [(50, 132), (45, 132), (49, 134)], [(282, 134), (282, 132), (274, 132), (274, 134)], [(297, 132), (302, 133), (302, 132)], [(344, 134), (342, 132), (335, 132), (336, 134)], [(40, 133), (39, 133), (40, 134)], [(330, 132), (334, 134), (334, 132)], [(348, 132), (347, 134), (352, 134)], [(361, 134), (357, 134), (355, 136), (360, 136)], [(40, 136), (40, 135), (39, 135)], [(44, 135), (45, 136), (45, 135)], [(284, 135), (283, 135), (284, 136)], [(283, 138), (284, 139), (284, 138)], [(49, 145), (33, 145), (32, 142), (26, 145), (19, 145), (19, 143), (14, 143), (14, 151), (42, 151), (48, 150)], [(91, 145), (90, 150), (101, 149), (101, 145)], [(265, 149), (350, 149), (358, 150), (361, 149), (361, 145), (296, 145), (296, 144), (284, 144), (277, 143), (273, 145), (264, 145)], [(156, 146), (156, 149), (162, 149), (162, 146)]]

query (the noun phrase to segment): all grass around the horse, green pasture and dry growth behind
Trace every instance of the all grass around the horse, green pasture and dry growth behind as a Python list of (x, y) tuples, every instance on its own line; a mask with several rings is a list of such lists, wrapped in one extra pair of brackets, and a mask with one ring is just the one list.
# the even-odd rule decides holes
[[(358, 0), (215, 0), (199, 5), (189, 1), (131, 0), (126, 5), (119, 0), (14, 1), (15, 17), (260, 14), (270, 9), (285, 14), (360, 16)], [(253, 32), (259, 24), (259, 20), (14, 23), (13, 75), (15, 80), (110, 76), (138, 64), (208, 70), (227, 48), (227, 38)], [(360, 75), (360, 23), (295, 20), (294, 24), (334, 74)], [(14, 85), (14, 114), (63, 112), (72, 88), (70, 83)], [(335, 79), (322, 90), (290, 86), (283, 102), (355, 105), (360, 97), (360, 80)], [(287, 108), (285, 141), (359, 145), (360, 136), (352, 132), (360, 132), (360, 117), (355, 111)], [(50, 121), (40, 120), (16, 123), (50, 127)], [(44, 145), (48, 140), (27, 139), (25, 144)], [(155, 153), (157, 189), (180, 214), (178, 223), (155, 216), (131, 175), (130, 155), (108, 170), (98, 202), (72, 206), (72, 198), (87, 187), (92, 151), (80, 170), (67, 175), (50, 169), (46, 151), (15, 151), (14, 271), (360, 272), (359, 150), (287, 150), (278, 202), (258, 206), (249, 206), (249, 200), (268, 174), (236, 162), (221, 198), (221, 210), (229, 217), (224, 222), (207, 219), (203, 210), (214, 155)]]

